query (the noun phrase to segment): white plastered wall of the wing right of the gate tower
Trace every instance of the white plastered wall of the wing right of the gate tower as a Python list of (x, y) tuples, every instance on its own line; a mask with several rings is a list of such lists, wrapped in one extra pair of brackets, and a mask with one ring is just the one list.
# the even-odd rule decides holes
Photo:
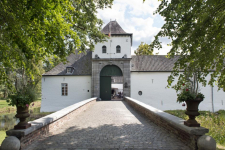
[[(131, 97), (161, 110), (186, 109), (186, 106), (183, 107), (181, 103), (176, 102), (176, 91), (166, 88), (169, 75), (170, 72), (131, 72)], [(207, 79), (209, 80), (209, 76)], [(212, 111), (211, 86), (200, 86), (199, 89), (205, 95), (199, 109)], [(217, 90), (218, 87), (215, 85), (214, 111), (225, 109), (225, 92)], [(138, 91), (142, 91), (142, 95), (138, 95)]]

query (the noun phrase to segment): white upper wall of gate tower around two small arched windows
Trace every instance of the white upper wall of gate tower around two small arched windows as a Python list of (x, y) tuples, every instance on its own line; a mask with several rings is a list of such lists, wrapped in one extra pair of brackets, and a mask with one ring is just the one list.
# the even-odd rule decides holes
[[(102, 46), (107, 48), (106, 53), (102, 53)], [(116, 53), (116, 46), (120, 45), (121, 53)], [(122, 58), (125, 54), (127, 58), (131, 58), (131, 37), (130, 36), (111, 36), (108, 41), (95, 44), (95, 50), (92, 53), (92, 58), (95, 55), (100, 58)]]

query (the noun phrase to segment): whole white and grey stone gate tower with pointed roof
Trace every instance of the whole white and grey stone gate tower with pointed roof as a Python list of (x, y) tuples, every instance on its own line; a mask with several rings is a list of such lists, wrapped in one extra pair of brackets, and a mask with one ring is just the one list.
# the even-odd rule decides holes
[(109, 100), (113, 90), (129, 97), (132, 33), (125, 32), (116, 21), (110, 21), (102, 33), (110, 37), (96, 43), (92, 52), (92, 97)]

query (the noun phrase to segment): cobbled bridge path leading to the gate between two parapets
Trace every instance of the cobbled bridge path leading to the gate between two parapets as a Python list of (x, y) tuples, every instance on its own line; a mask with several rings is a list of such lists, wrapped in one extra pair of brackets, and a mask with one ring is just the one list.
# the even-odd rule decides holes
[(27, 150), (189, 150), (123, 101), (98, 101)]

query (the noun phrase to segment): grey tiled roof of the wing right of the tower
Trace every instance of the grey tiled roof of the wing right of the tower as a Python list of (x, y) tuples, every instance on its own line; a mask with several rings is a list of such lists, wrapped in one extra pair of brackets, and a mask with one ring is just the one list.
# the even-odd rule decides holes
[(166, 58), (166, 55), (132, 56), (131, 71), (172, 71), (179, 56)]

